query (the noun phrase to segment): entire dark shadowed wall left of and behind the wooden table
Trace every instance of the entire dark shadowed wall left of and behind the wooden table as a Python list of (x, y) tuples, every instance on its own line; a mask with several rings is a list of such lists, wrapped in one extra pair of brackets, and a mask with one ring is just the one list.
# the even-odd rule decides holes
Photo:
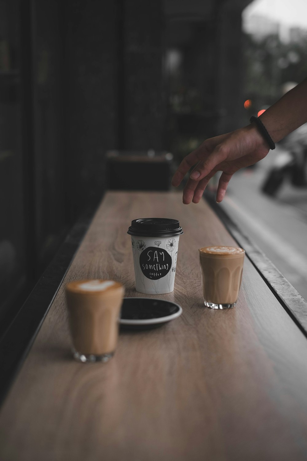
[(101, 199), (106, 151), (163, 147), (163, 17), (162, 0), (0, 0), (0, 317)]

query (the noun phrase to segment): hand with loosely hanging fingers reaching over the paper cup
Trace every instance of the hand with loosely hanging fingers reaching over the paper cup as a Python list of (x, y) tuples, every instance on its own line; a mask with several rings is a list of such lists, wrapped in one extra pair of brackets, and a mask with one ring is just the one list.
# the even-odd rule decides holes
[(188, 205), (191, 200), (198, 203), (211, 177), (217, 171), (222, 171), (216, 193), (216, 201), (220, 203), (233, 173), (262, 160), (268, 152), (269, 146), (255, 124), (215, 136), (204, 141), (182, 160), (174, 174), (172, 185), (179, 186), (189, 169), (196, 165), (183, 190), (183, 203)]

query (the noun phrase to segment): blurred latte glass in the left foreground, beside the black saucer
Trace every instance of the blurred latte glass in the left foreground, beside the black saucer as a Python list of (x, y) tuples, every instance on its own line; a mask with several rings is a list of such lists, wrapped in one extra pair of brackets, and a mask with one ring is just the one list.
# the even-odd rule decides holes
[(124, 287), (114, 280), (78, 280), (66, 285), (74, 358), (106, 362), (114, 355)]

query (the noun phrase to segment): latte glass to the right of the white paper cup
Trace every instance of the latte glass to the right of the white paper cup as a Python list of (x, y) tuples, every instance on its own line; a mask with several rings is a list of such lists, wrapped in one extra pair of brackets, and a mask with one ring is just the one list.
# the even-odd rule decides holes
[(238, 247), (199, 249), (204, 303), (211, 309), (234, 307), (242, 281), (245, 251)]

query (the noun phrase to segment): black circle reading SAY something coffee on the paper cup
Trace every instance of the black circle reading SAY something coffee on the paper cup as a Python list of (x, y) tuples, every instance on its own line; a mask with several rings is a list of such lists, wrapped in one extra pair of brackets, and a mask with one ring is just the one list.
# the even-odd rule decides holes
[(163, 248), (148, 247), (139, 255), (139, 265), (145, 277), (158, 280), (170, 271), (172, 257)]

